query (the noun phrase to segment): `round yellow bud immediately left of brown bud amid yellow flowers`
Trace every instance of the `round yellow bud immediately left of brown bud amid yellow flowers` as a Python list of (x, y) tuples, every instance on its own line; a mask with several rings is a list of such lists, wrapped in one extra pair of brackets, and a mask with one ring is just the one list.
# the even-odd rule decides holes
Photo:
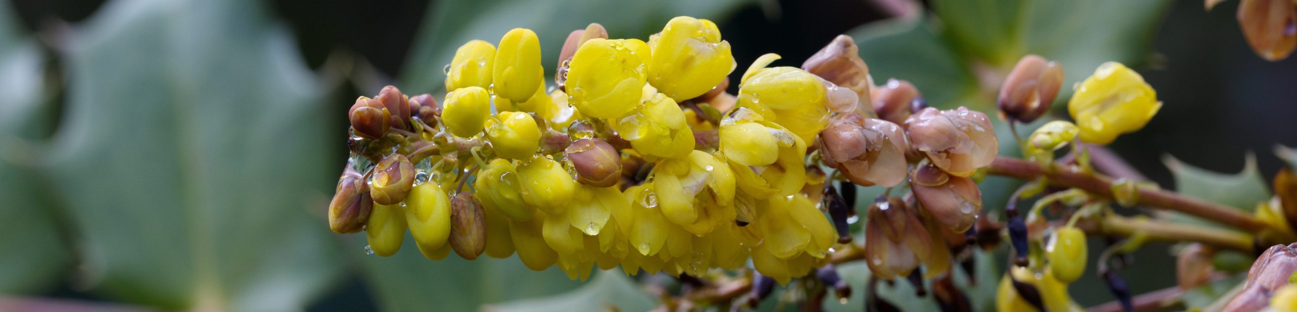
[(565, 211), (576, 192), (576, 180), (572, 180), (567, 170), (559, 162), (541, 155), (518, 166), (518, 177), (523, 201), (551, 215)]

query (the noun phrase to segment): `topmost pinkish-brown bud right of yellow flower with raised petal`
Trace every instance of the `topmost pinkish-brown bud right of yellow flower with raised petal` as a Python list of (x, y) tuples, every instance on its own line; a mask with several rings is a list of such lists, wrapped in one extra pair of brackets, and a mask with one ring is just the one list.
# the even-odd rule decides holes
[[(838, 87), (853, 91), (861, 104), (870, 104), (869, 66), (865, 65), (864, 60), (860, 60), (860, 49), (856, 48), (856, 41), (851, 36), (838, 35), (829, 45), (807, 58), (802, 63), (802, 69)], [(872, 106), (861, 109), (873, 110)], [(866, 113), (860, 111), (860, 114)]]

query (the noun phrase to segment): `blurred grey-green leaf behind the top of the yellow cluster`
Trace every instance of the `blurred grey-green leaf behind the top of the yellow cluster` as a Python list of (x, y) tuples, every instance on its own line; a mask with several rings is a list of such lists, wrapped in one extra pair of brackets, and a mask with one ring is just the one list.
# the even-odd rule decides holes
[[(420, 92), (445, 88), (442, 69), (450, 63), (455, 49), (468, 40), (497, 44), (511, 28), (536, 31), (541, 39), (541, 56), (546, 80), (553, 79), (559, 49), (568, 32), (601, 23), (611, 38), (638, 38), (661, 31), (673, 17), (724, 18), (752, 0), (449, 0), (436, 1), (424, 16), (425, 22), (415, 38), (406, 67), (401, 72), (402, 89)], [(724, 34), (722, 34), (724, 36)]]

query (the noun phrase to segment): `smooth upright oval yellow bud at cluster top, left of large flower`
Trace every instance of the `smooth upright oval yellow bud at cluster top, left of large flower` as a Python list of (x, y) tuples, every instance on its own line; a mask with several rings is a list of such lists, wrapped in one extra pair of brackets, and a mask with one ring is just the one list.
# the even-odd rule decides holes
[(541, 66), (541, 40), (528, 28), (514, 28), (499, 39), (492, 66), (494, 92), (514, 102), (525, 102), (545, 82)]

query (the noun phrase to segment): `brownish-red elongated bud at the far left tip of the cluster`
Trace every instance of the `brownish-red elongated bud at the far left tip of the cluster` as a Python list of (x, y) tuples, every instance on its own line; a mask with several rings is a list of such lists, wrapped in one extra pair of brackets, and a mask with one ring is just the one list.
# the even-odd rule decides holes
[(337, 233), (355, 233), (364, 228), (370, 219), (374, 199), (367, 192), (364, 180), (355, 171), (348, 170), (337, 180), (333, 199), (328, 203), (328, 227)]

